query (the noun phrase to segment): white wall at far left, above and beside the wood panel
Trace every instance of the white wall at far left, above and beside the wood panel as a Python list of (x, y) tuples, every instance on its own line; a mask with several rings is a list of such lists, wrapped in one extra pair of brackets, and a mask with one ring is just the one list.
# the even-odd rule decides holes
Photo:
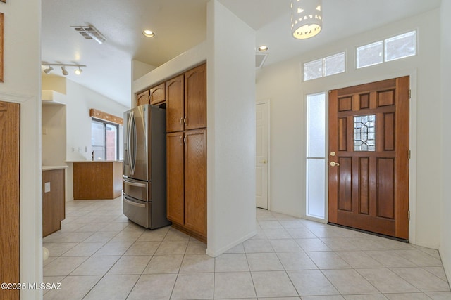
[[(24, 9), (26, 8), (26, 9)], [(40, 104), (41, 1), (0, 3), (4, 13), (4, 83), (0, 100), (20, 103), (20, 282), (42, 282)], [(20, 291), (20, 299), (42, 292)]]

